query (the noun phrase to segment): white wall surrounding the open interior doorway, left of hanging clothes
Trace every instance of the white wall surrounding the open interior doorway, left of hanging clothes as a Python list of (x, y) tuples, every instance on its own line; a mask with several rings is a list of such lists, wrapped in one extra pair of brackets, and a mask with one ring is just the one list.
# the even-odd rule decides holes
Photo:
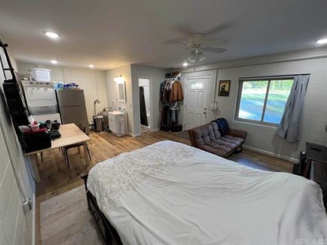
[(164, 81), (167, 69), (154, 68), (145, 65), (132, 64), (131, 75), (133, 84), (133, 105), (135, 110), (134, 114), (134, 125), (135, 135), (140, 133), (139, 131), (139, 102), (138, 102), (138, 78), (149, 78), (150, 79), (150, 101), (151, 104), (151, 115), (150, 115), (150, 126), (151, 129), (156, 130), (160, 128), (160, 101), (159, 101), (159, 86)]

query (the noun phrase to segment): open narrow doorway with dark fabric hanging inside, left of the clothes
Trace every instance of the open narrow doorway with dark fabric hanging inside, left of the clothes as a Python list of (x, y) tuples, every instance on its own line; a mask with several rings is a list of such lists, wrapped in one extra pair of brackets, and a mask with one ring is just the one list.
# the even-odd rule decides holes
[(139, 96), (139, 120), (141, 132), (150, 130), (150, 79), (138, 78), (138, 96)]

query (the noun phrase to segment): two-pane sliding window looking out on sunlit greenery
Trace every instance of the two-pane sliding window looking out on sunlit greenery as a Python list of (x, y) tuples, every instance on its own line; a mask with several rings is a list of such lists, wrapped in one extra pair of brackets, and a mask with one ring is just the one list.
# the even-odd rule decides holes
[(277, 126), (293, 81), (293, 77), (241, 79), (235, 120)]

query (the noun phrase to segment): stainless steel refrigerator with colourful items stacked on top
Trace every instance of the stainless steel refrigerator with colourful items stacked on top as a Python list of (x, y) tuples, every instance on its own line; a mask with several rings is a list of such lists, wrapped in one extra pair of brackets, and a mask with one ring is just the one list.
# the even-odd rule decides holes
[(89, 132), (85, 98), (83, 90), (57, 90), (57, 101), (63, 124), (75, 123), (85, 125), (85, 132)]

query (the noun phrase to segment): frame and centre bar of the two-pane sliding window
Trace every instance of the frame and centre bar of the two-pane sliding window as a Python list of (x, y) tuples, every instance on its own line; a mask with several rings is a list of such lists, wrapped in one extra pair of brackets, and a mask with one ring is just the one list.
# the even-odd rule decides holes
[[(263, 106), (263, 109), (262, 109), (261, 120), (259, 121), (259, 120), (251, 120), (251, 119), (239, 118), (243, 82), (248, 82), (248, 81), (262, 81), (262, 80), (268, 81), (268, 84), (267, 84), (266, 96), (265, 96), (265, 100), (264, 100), (264, 106)], [(269, 96), (269, 90), (270, 90), (270, 82), (273, 81), (273, 80), (293, 80), (293, 82), (294, 82), (294, 76), (284, 76), (284, 77), (283, 76), (273, 76), (273, 77), (239, 78), (239, 86), (238, 86), (237, 101), (236, 101), (235, 114), (234, 114), (234, 121), (253, 123), (253, 124), (258, 124), (258, 125), (262, 125), (262, 126), (278, 127), (279, 123), (264, 122), (264, 118), (265, 118), (265, 114), (266, 114), (266, 106), (267, 106), (267, 101), (268, 101), (268, 96)]]

